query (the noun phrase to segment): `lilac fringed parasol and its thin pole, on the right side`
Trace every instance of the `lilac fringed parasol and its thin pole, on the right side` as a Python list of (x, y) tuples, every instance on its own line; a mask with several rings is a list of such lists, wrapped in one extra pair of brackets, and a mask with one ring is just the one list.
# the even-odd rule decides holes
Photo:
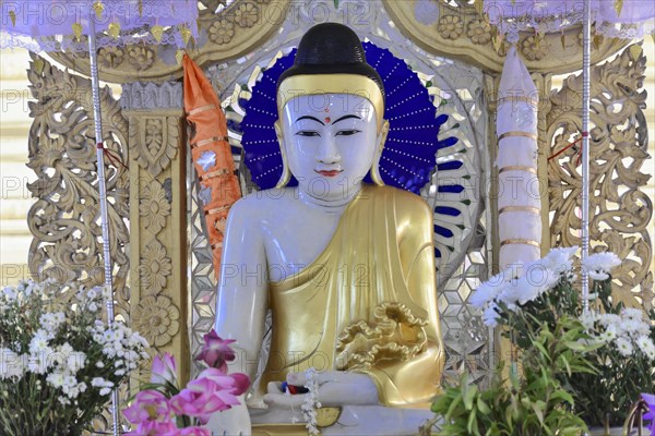
[[(537, 34), (560, 32), (572, 24), (583, 23), (582, 59), (582, 258), (590, 251), (590, 69), (591, 29), (597, 34), (624, 39), (643, 38), (655, 31), (653, 0), (475, 0), (481, 2), (500, 34), (511, 44), (519, 32)], [(588, 310), (588, 272), (582, 270), (582, 301)]]

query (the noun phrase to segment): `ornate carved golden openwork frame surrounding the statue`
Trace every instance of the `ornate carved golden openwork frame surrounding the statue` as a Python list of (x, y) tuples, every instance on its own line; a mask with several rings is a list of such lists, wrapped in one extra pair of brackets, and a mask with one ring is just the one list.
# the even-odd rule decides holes
[[(384, 8), (394, 25), (426, 51), (480, 68), (492, 126), (505, 44), (493, 39), (488, 25), (466, 1), (433, 1), (439, 4), (439, 16), (428, 24), (415, 17), (415, 0), (370, 4), (342, 1), (340, 8), (352, 10), (355, 16), (360, 7)], [(262, 47), (287, 16), (307, 13), (311, 8), (334, 8), (332, 0), (236, 0), (227, 7), (221, 0), (200, 3), (204, 10), (192, 55), (205, 68)], [(575, 152), (570, 149), (557, 159), (548, 157), (580, 130), (580, 75), (569, 76), (561, 89), (551, 88), (553, 74), (579, 70), (580, 33), (580, 27), (571, 27), (563, 34), (522, 34), (519, 41), (540, 93), (544, 252), (551, 245), (579, 243), (580, 168)], [(616, 274), (619, 298), (630, 305), (650, 308), (655, 303), (653, 274), (648, 271), (653, 246), (646, 226), (652, 220), (653, 204), (641, 191), (648, 175), (640, 172), (648, 157), (642, 90), (645, 58), (639, 46), (632, 46), (612, 61), (598, 64), (627, 46), (624, 40), (596, 38), (592, 53), (596, 64), (592, 80), (592, 160), (596, 161), (592, 165), (592, 210), (596, 213), (591, 234), (593, 247), (607, 247), (628, 258)], [(87, 58), (70, 53), (51, 57), (81, 74), (88, 71)], [(131, 317), (156, 350), (184, 355), (189, 353), (191, 312), (187, 290), (186, 132), (180, 87), (169, 82), (181, 76), (181, 66), (174, 52), (148, 46), (102, 49), (99, 59), (102, 78), (124, 84), (122, 110), (107, 89), (103, 94), (105, 138), (130, 164), (129, 171), (119, 168), (108, 174), (109, 195), (114, 198), (111, 233), (119, 313)], [(37, 100), (31, 106), (35, 121), (29, 133), (29, 166), (38, 175), (31, 185), (38, 199), (28, 215), (34, 234), (32, 274), (99, 283), (95, 164), (87, 153), (93, 150), (90, 83), (38, 57), (31, 64), (29, 81)], [(488, 150), (492, 162), (493, 129)], [(490, 190), (492, 198), (496, 187), (491, 185)], [(492, 218), (495, 205), (488, 207)], [(487, 226), (493, 238), (496, 222)], [(497, 250), (498, 241), (492, 239), (491, 243)], [(187, 373), (186, 363), (181, 371)]]

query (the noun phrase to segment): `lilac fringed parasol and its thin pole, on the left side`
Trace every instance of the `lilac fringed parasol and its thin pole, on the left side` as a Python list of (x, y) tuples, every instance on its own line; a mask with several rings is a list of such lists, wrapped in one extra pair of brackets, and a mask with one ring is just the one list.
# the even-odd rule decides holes
[[(196, 36), (198, 2), (193, 0), (14, 0), (2, 1), (0, 4), (0, 49), (22, 47), (31, 51), (88, 51), (105, 287), (112, 290), (97, 48), (132, 44), (166, 44), (183, 48), (192, 36)], [(114, 322), (112, 298), (107, 302), (107, 318), (110, 324)], [(114, 434), (118, 435), (120, 432), (118, 387), (112, 392), (111, 405)]]

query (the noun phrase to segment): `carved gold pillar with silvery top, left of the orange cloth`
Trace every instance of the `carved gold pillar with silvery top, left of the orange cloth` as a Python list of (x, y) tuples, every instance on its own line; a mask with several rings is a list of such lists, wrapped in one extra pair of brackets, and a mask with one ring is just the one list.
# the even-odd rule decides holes
[(132, 325), (152, 353), (189, 375), (187, 205), (182, 86), (123, 85), (130, 148)]

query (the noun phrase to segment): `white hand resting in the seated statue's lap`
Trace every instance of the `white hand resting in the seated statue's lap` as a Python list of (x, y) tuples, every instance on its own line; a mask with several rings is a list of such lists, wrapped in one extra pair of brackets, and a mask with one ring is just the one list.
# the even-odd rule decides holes
[[(317, 373), (314, 378), (319, 385), (318, 399), (322, 407), (379, 403), (376, 384), (366, 374), (326, 371)], [(287, 383), (295, 386), (305, 386), (307, 378), (303, 373), (291, 373), (287, 375)], [(264, 402), (270, 408), (295, 408), (298, 410), (306, 398), (307, 393), (288, 395), (283, 392), (282, 384), (270, 383)]]

